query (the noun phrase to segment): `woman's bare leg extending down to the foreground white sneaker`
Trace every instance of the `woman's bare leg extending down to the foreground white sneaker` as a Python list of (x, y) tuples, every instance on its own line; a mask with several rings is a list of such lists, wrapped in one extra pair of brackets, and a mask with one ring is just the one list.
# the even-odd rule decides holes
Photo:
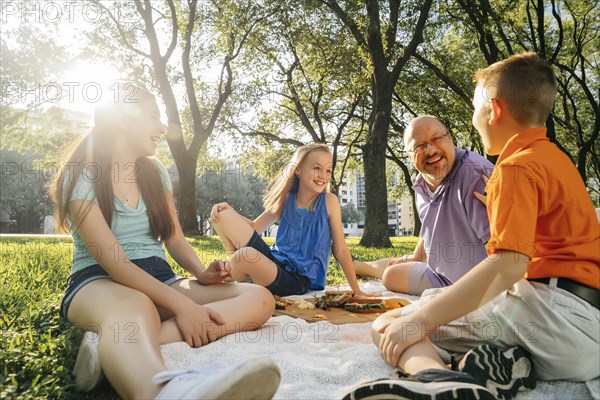
[(98, 333), (104, 374), (122, 398), (153, 399), (161, 385), (152, 377), (164, 371), (154, 303), (137, 290), (109, 279), (85, 285), (68, 310), (75, 326)]

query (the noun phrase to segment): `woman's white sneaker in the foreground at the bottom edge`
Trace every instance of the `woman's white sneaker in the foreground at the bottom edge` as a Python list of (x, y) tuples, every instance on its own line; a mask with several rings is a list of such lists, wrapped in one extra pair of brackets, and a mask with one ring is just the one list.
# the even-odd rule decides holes
[(281, 374), (268, 357), (243, 361), (232, 367), (211, 364), (203, 368), (164, 371), (154, 383), (165, 383), (158, 399), (271, 399)]

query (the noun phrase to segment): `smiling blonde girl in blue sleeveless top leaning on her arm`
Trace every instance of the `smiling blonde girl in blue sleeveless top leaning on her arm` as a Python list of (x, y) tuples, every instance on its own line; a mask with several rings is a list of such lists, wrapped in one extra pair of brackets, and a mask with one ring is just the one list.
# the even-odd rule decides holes
[[(333, 250), (352, 291), (364, 294), (344, 238), (340, 203), (329, 193), (332, 162), (326, 144), (299, 147), (267, 190), (265, 211), (254, 221), (227, 203), (213, 207), (211, 222), (232, 255), (232, 280), (249, 277), (278, 296), (322, 290)], [(275, 222), (277, 238), (269, 248), (259, 232)]]

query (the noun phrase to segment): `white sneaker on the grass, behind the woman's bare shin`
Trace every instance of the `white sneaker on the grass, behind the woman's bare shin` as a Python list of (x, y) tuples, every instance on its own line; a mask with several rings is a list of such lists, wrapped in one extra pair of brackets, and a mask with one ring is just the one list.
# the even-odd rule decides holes
[(98, 352), (99, 340), (96, 332), (85, 332), (79, 346), (73, 374), (77, 388), (84, 392), (89, 392), (98, 386), (104, 376)]

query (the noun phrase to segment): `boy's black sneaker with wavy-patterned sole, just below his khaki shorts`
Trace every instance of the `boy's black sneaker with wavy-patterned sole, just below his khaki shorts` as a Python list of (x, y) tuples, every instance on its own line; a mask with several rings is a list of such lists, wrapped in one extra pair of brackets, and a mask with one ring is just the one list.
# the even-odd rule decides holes
[(484, 344), (465, 354), (459, 370), (485, 382), (499, 399), (512, 399), (521, 387), (535, 389), (536, 385), (531, 358), (522, 347), (503, 352)]

